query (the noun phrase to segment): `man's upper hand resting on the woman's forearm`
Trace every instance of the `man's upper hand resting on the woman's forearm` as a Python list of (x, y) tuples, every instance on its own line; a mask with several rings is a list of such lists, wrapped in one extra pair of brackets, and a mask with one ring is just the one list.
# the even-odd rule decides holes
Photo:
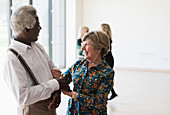
[(60, 90), (66, 91), (66, 92), (72, 92), (72, 90), (70, 89), (70, 86), (68, 85), (68, 83), (66, 82), (65, 78), (56, 78), (57, 81), (60, 84)]

